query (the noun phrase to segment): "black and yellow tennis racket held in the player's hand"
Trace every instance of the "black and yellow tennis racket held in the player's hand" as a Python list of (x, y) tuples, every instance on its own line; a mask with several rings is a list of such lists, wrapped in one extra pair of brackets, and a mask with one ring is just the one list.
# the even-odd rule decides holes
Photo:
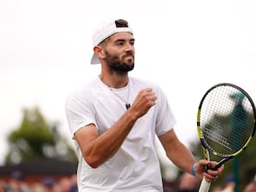
[[(235, 84), (216, 84), (202, 97), (197, 113), (197, 131), (206, 159), (209, 154), (221, 160), (212, 170), (241, 154), (255, 132), (255, 106), (245, 90)], [(208, 155), (208, 157), (207, 157)], [(211, 183), (202, 179), (199, 192)]]

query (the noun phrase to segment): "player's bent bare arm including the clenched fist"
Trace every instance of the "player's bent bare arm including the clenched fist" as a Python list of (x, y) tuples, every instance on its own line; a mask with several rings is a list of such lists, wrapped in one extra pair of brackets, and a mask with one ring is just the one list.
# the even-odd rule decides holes
[[(90, 124), (75, 132), (84, 160), (93, 168), (102, 165), (115, 154), (138, 118), (154, 106), (156, 96), (151, 88), (140, 90), (135, 102), (108, 131), (98, 134), (96, 125)], [(111, 115), (111, 114), (109, 114)]]

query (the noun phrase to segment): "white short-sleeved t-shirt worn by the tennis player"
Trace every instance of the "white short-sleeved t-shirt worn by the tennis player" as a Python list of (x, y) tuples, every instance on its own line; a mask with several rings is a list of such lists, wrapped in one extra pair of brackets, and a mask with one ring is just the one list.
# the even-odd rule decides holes
[(72, 135), (91, 123), (102, 134), (125, 113), (128, 92), (128, 102), (132, 105), (138, 91), (147, 87), (154, 90), (157, 96), (156, 105), (137, 119), (117, 153), (104, 164), (91, 168), (74, 140), (79, 155), (79, 192), (163, 191), (160, 164), (154, 148), (155, 135), (170, 131), (176, 124), (176, 119), (166, 95), (157, 84), (130, 78), (126, 87), (110, 90), (97, 78), (67, 97), (67, 121)]

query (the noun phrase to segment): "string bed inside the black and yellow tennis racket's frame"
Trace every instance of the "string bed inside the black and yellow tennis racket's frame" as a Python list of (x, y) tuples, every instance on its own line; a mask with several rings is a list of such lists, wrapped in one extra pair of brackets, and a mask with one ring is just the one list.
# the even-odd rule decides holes
[(219, 86), (207, 94), (200, 119), (207, 145), (220, 155), (243, 148), (254, 126), (251, 102), (230, 86)]

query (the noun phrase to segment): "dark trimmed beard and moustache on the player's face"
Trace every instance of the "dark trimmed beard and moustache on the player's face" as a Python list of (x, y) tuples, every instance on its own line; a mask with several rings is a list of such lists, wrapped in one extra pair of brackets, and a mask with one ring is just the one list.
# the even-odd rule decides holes
[[(108, 51), (106, 53), (106, 62), (108, 63), (109, 69), (113, 73), (117, 73), (119, 75), (125, 75), (130, 72), (134, 68), (134, 55), (132, 53), (125, 54), (122, 59), (119, 59), (118, 55), (110, 55)], [(125, 56), (132, 56), (133, 60), (129, 60), (127, 62), (124, 61)]]

